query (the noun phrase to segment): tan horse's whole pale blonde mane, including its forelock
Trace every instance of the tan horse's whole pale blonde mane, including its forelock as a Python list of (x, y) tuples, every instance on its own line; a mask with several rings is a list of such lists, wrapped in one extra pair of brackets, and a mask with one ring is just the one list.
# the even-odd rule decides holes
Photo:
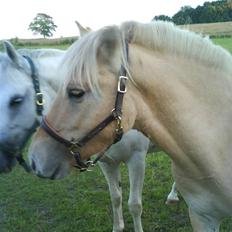
[[(120, 61), (127, 70), (125, 56), (125, 41), (142, 45), (160, 53), (169, 53), (189, 60), (195, 60), (214, 69), (232, 72), (232, 56), (225, 49), (212, 43), (208, 38), (180, 29), (174, 24), (163, 21), (153, 21), (142, 24), (134, 21), (125, 22), (120, 27), (105, 27), (90, 32), (76, 41), (64, 57), (64, 73), (66, 81), (79, 80), (87, 84), (91, 90), (99, 90), (97, 53), (103, 35), (111, 29), (121, 46)], [(78, 51), (78, 52), (77, 52)], [(112, 57), (109, 57), (111, 59)], [(84, 86), (84, 85), (83, 85)]]

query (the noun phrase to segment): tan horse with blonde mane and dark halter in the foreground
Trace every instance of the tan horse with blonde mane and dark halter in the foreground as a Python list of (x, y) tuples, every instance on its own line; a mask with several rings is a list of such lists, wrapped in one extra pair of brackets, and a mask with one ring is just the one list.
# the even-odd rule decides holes
[(87, 34), (63, 60), (66, 81), (30, 147), (34, 171), (87, 168), (122, 127), (136, 128), (173, 160), (194, 231), (219, 231), (232, 215), (231, 64), (229, 52), (171, 23)]

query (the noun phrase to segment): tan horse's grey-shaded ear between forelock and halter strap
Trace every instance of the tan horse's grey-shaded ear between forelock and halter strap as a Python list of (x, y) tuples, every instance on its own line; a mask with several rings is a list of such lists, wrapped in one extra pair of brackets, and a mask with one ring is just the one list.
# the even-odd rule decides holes
[(98, 41), (97, 58), (99, 62), (118, 70), (121, 64), (122, 38), (118, 27), (103, 29)]

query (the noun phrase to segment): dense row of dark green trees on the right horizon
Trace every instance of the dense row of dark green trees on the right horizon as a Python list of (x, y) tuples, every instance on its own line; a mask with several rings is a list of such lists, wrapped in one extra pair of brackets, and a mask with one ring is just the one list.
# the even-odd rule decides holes
[(232, 21), (232, 0), (205, 2), (196, 8), (183, 6), (172, 17), (158, 15), (153, 20), (172, 21), (177, 25)]

